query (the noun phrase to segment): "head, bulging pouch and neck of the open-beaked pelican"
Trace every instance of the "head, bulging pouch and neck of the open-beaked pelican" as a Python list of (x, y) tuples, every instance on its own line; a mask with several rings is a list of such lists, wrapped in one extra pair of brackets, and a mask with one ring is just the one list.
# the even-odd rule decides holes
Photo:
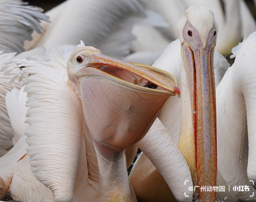
[(136, 201), (124, 149), (139, 141), (165, 101), (180, 93), (176, 79), (154, 67), (107, 57), (93, 47), (76, 49), (67, 73), (82, 101), (97, 155), (100, 177), (95, 201)]

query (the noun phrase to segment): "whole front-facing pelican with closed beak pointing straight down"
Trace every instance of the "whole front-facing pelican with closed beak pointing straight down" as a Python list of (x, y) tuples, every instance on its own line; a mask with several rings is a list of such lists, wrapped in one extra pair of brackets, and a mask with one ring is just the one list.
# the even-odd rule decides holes
[[(217, 31), (213, 13), (207, 7), (202, 4), (190, 5), (178, 24), (181, 43), (175, 41), (154, 63), (154, 66), (159, 68), (176, 71), (173, 71), (175, 76), (180, 74), (178, 85), (181, 88), (181, 100), (168, 101), (159, 118), (170, 134), (177, 133), (177, 127), (180, 127), (178, 147), (190, 167), (194, 185), (200, 187), (216, 186), (213, 55)], [(181, 48), (171, 52), (173, 45)], [(177, 141), (175, 136), (174, 139)], [(140, 142), (137, 145), (140, 147)], [(146, 157), (140, 156), (130, 173), (129, 178), (135, 193), (146, 201), (171, 201), (169, 189), (164, 185), (158, 185), (163, 184), (163, 180), (155, 171), (149, 171), (148, 163)], [(138, 173), (139, 171), (143, 173)], [(148, 179), (154, 184), (146, 185)], [(148, 189), (154, 185), (157, 186), (155, 191)], [(169, 192), (166, 197), (163, 195), (165, 191)], [(215, 192), (203, 192), (200, 189), (198, 191), (200, 200), (215, 201)]]

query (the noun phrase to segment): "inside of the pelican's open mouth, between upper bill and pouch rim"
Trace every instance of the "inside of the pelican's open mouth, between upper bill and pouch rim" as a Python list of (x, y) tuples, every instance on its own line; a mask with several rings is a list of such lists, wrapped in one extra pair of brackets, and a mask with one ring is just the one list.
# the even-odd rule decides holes
[(138, 86), (151, 88), (151, 89), (157, 89), (157, 90), (164, 90), (163, 88), (147, 81), (146, 79), (144, 79), (144, 78), (142, 78), (138, 75), (133, 74), (132, 72), (122, 70), (122, 69), (119, 69), (117, 67), (102, 66), (100, 68), (100, 70), (105, 72), (105, 73), (108, 73), (112, 76), (115, 76), (119, 79), (127, 81), (129, 83), (138, 85)]

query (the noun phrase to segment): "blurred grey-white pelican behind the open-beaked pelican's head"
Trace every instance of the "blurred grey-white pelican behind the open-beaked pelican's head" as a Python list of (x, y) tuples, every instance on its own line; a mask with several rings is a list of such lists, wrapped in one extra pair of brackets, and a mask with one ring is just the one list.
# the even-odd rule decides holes
[(132, 53), (131, 41), (135, 36), (131, 29), (134, 24), (146, 27), (168, 25), (160, 14), (146, 9), (146, 4), (143, 0), (67, 0), (46, 12), (52, 23), (43, 23), (46, 32), (34, 33), (33, 40), (27, 41), (25, 48), (55, 45), (62, 50), (63, 44), (74, 47), (83, 40), (85, 45), (96, 47), (110, 57), (151, 65), (160, 55), (159, 50), (154, 53), (142, 51), (139, 57), (126, 58)]

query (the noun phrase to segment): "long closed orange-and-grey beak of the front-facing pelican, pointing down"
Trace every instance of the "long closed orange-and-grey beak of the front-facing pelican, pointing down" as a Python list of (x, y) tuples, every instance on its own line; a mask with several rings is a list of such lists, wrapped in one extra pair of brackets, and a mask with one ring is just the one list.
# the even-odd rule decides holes
[[(209, 49), (191, 50), (182, 44), (183, 63), (187, 65), (190, 84), (190, 101), (193, 121), (195, 172), (194, 183), (199, 186), (201, 201), (215, 201), (214, 191), (202, 191), (201, 187), (216, 186), (216, 96), (213, 72), (214, 46)], [(185, 56), (185, 57), (184, 57)]]

